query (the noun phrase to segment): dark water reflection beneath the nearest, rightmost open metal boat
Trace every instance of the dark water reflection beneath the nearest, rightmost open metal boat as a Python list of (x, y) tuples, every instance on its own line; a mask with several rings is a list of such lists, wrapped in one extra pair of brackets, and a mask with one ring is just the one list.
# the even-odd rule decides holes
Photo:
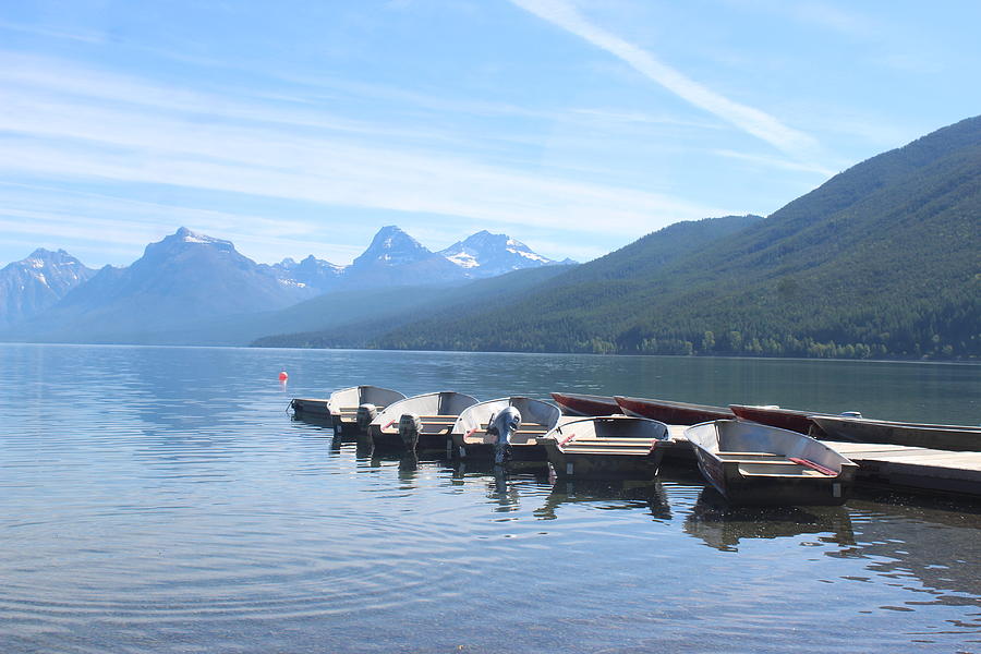
[(855, 545), (851, 518), (843, 507), (732, 507), (711, 486), (699, 494), (685, 532), (710, 547), (737, 552), (746, 538), (784, 538), (800, 534), (826, 534), (824, 543)]

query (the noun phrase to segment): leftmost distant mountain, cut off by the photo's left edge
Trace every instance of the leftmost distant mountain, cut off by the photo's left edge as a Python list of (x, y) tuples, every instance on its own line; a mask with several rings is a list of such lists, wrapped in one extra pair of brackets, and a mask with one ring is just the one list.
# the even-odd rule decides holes
[(0, 328), (53, 306), (95, 272), (64, 250), (39, 247), (9, 264), (0, 270)]

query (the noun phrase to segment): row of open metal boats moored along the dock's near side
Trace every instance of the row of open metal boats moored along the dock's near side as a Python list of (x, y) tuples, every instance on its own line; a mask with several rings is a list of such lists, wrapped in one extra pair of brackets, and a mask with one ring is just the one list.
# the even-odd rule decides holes
[(548, 462), (559, 477), (652, 479), (665, 452), (687, 439), (702, 474), (732, 504), (840, 505), (853, 483), (857, 465), (831, 447), (726, 409), (570, 393), (553, 399), (481, 402), (453, 391), (407, 398), (359, 386), (326, 403), (295, 399), (291, 405), (379, 450), (445, 450), (477, 463)]

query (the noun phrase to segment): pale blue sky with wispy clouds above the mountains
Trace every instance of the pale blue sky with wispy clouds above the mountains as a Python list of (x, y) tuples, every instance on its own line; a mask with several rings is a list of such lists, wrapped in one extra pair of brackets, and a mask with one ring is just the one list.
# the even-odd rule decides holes
[(981, 2), (0, 2), (0, 265), (184, 226), (349, 264), (383, 226), (589, 261), (770, 215), (981, 113)]

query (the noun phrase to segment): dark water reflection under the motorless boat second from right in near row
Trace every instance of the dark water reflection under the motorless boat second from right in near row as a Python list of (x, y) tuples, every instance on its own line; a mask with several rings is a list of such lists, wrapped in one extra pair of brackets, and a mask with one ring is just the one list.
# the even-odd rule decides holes
[(657, 520), (671, 519), (667, 495), (657, 480), (558, 481), (534, 514), (540, 520), (555, 520), (559, 507), (584, 504), (594, 504), (603, 510), (645, 509)]

